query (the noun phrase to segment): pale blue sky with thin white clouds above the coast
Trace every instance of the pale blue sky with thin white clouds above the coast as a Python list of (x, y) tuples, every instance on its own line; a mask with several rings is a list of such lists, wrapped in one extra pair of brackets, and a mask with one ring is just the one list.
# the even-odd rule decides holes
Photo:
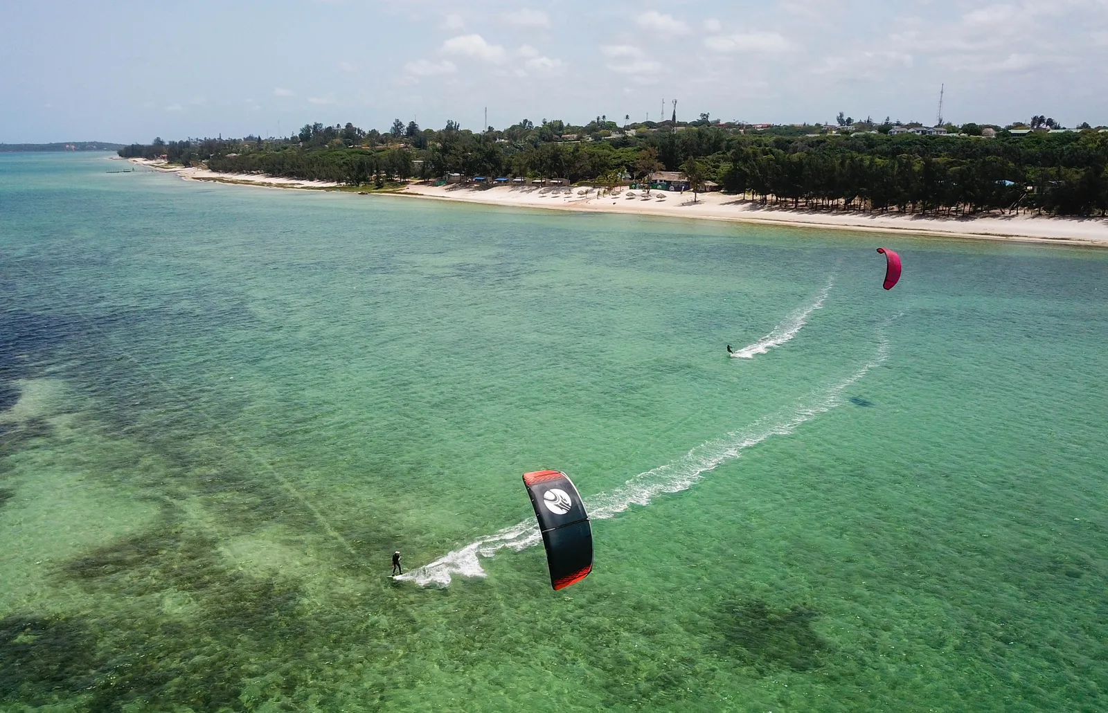
[[(0, 142), (393, 118), (1108, 124), (1108, 0), (0, 0)], [(665, 101), (665, 103), (663, 103)]]

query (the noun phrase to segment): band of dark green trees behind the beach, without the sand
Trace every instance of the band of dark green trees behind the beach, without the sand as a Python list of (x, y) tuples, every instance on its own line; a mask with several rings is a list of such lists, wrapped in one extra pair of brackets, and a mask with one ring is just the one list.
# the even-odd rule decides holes
[(119, 153), (203, 164), (216, 172), (356, 186), (450, 174), (611, 186), (646, 180), (665, 169), (685, 172), (697, 190), (711, 180), (727, 193), (791, 208), (945, 215), (1108, 211), (1108, 133), (1087, 124), (1048, 131), (1049, 124), (1036, 116), (1032, 131), (964, 124), (943, 127), (945, 135), (917, 135), (893, 131), (888, 120), (849, 122), (840, 117), (833, 131), (818, 125), (756, 127), (719, 124), (701, 114), (688, 123), (619, 127), (597, 116), (584, 126), (524, 120), (503, 131), (472, 132), (455, 122), (421, 130), (397, 120), (383, 133), (350, 123), (317, 123), (285, 138), (157, 138)]

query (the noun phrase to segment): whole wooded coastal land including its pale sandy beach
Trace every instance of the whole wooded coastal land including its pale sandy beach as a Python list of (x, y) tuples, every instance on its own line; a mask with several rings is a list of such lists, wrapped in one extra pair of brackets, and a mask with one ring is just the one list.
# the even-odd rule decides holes
[(1108, 131), (1043, 118), (1002, 128), (840, 117), (833, 127), (701, 114), (483, 133), (398, 120), (386, 133), (315, 124), (287, 138), (158, 138), (119, 154), (188, 178), (271, 187), (1108, 245)]

